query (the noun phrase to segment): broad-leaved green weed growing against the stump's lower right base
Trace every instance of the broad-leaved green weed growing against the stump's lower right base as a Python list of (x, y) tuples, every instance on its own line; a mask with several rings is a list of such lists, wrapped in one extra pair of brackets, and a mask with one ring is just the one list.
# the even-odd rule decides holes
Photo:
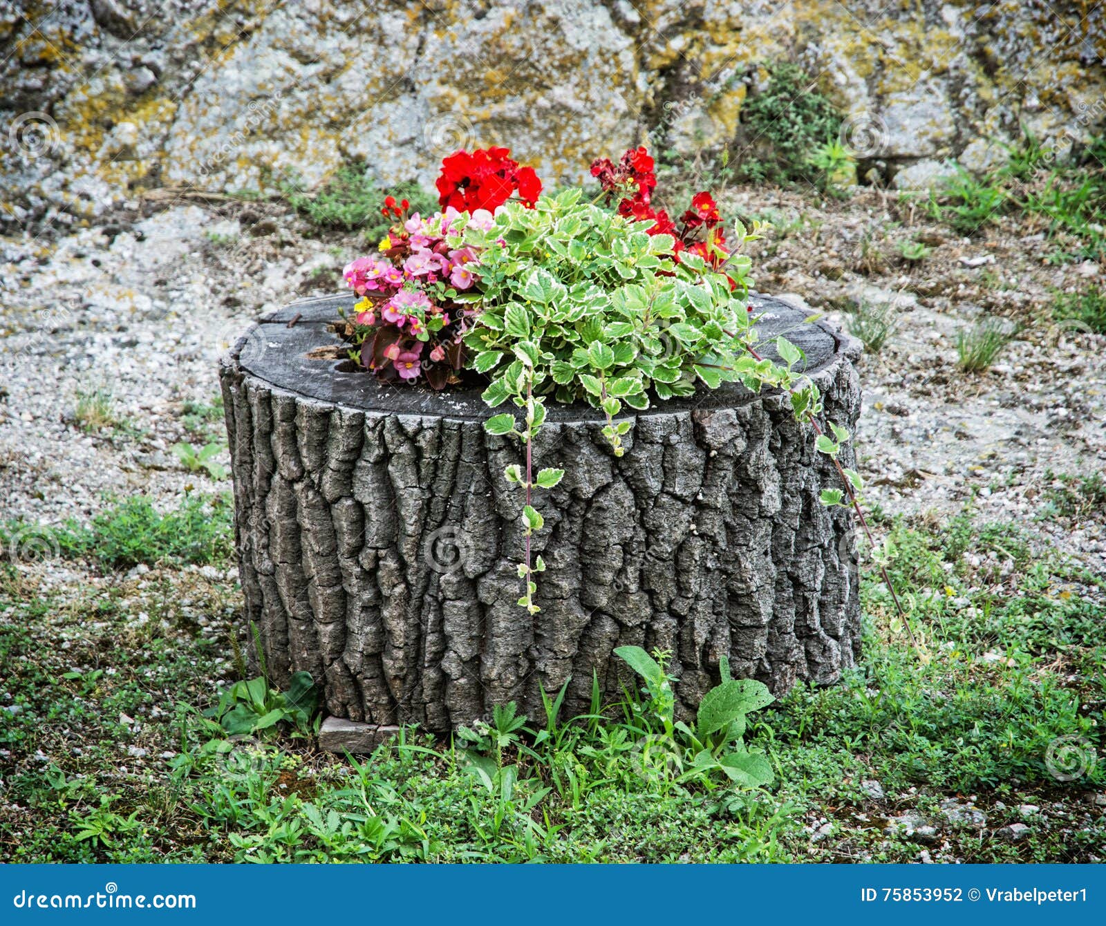
[[(693, 724), (675, 719), (672, 678), (667, 674), (667, 654), (654, 651), (650, 656), (640, 646), (619, 646), (615, 655), (643, 680), (647, 697), (630, 702), (638, 709), (633, 724), (648, 734), (662, 734), (672, 748), (654, 749), (665, 768), (675, 772), (678, 781), (710, 785), (719, 775), (739, 788), (760, 788), (772, 783), (772, 765), (759, 750), (744, 744), (747, 715), (766, 707), (773, 701), (768, 687), (752, 678), (730, 677), (730, 663), (720, 661), (721, 682), (703, 696)], [(656, 657), (655, 657), (656, 656)], [(675, 768), (668, 768), (669, 764)]]

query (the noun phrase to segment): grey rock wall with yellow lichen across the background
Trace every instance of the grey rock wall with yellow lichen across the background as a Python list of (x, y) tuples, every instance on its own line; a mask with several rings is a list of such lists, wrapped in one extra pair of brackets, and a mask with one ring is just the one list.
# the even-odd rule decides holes
[[(733, 141), (761, 65), (782, 60), (875, 127), (863, 155), (887, 177), (983, 169), (1022, 126), (1063, 154), (1106, 122), (1106, 13), (1078, 3), (60, 0), (21, 12), (0, 17), (0, 221), (15, 228), (87, 219), (165, 183), (311, 187), (351, 160), (384, 182), (428, 181), (466, 145), (508, 145), (561, 182), (646, 130), (693, 157)], [(28, 118), (48, 145), (28, 143)]]

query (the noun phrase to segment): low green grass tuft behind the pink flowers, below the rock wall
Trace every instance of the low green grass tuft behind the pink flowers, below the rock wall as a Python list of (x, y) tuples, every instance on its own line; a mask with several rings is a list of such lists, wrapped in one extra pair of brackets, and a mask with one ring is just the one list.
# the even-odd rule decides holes
[(311, 224), (324, 229), (359, 229), (365, 239), (379, 241), (392, 225), (392, 221), (380, 214), (384, 197), (388, 193), (396, 200), (410, 201), (411, 212), (426, 215), (438, 208), (432, 197), (418, 183), (397, 183), (382, 188), (364, 165), (347, 165), (338, 168), (314, 193), (298, 186), (285, 183), (283, 193), (288, 202)]

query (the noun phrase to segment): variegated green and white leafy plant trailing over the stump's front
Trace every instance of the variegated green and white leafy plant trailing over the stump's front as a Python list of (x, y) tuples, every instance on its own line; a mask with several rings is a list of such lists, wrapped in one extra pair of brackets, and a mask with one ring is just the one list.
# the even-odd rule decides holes
[[(465, 241), (482, 251), (482, 292), (458, 297), (479, 301), (482, 309), (466, 347), (474, 369), (491, 378), (484, 401), (493, 408), (510, 401), (523, 414), (521, 424), (513, 413), (493, 415), (486, 428), (525, 445), (525, 470), (512, 464), (504, 475), (525, 494), (526, 550), (519, 566), (525, 593), (519, 603), (531, 613), (539, 610), (533, 576), (545, 568), (541, 557), (531, 562), (531, 537), (544, 525), (532, 493), (564, 476), (554, 469), (533, 474), (531, 449), (547, 397), (601, 409), (603, 434), (620, 456), (630, 422), (616, 419), (624, 406), (648, 408), (647, 390), (667, 399), (693, 394), (697, 382), (717, 388), (740, 380), (759, 390), (786, 378), (744, 350), (754, 341), (742, 298), (747, 256), (731, 259), (729, 278), (708, 272), (696, 254), (682, 254), (677, 264), (671, 235), (650, 235), (640, 223), (580, 199), (581, 191), (570, 189), (541, 198), (534, 210), (511, 203), (491, 228), (465, 229)], [(740, 246), (757, 229), (739, 225), (737, 235)]]

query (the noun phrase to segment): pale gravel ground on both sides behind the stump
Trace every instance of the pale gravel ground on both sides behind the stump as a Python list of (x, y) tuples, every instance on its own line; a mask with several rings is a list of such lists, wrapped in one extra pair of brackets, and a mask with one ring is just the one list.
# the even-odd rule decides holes
[[(773, 224), (754, 246), (760, 288), (838, 324), (857, 302), (894, 319), (859, 368), (870, 503), (946, 514), (974, 497), (981, 517), (1023, 522), (1106, 571), (1102, 513), (1037, 519), (1046, 473), (1106, 471), (1106, 338), (1050, 320), (1055, 293), (1100, 283), (1099, 266), (1045, 264), (1041, 235), (1012, 220), (957, 238), (874, 191), (816, 203), (747, 188), (731, 201)], [(908, 263), (907, 240), (931, 254)], [(0, 241), (4, 515), (58, 523), (112, 493), (179, 496), (198, 476), (171, 445), (187, 439), (184, 403), (213, 399), (218, 355), (264, 312), (337, 288), (363, 248), (281, 204), (154, 199), (53, 242)], [(961, 372), (957, 333), (988, 315), (1018, 332), (990, 370)], [(79, 397), (95, 390), (118, 427), (80, 427)]]

